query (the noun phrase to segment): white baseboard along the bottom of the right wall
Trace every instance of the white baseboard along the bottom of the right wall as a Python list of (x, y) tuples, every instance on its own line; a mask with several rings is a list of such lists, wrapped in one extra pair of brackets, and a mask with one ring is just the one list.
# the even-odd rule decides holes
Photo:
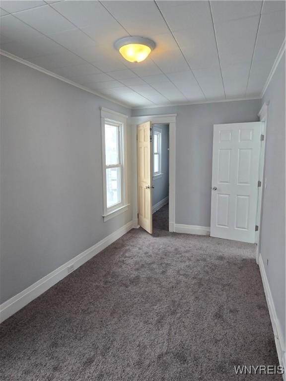
[[(267, 275), (266, 275), (266, 271), (265, 271), (265, 267), (264, 267), (264, 263), (263, 263), (261, 254), (259, 254), (258, 265), (259, 265), (259, 269), (260, 269), (264, 293), (265, 293), (268, 311), (269, 311), (269, 315), (270, 315), (270, 319), (271, 319), (271, 323), (272, 323), (272, 328), (273, 328), (273, 332), (274, 332), (274, 338), (275, 338), (275, 344), (276, 344), (276, 350), (277, 350), (277, 354), (278, 354), (279, 363), (285, 369), (285, 367), (286, 367), (285, 339), (284, 339), (284, 336), (282, 333), (280, 321), (278, 320), (278, 317), (277, 317), (274, 301), (272, 298), (272, 293), (271, 293), (270, 286), (268, 283), (268, 279), (267, 279)], [(283, 379), (286, 380), (286, 374), (283, 375)]]

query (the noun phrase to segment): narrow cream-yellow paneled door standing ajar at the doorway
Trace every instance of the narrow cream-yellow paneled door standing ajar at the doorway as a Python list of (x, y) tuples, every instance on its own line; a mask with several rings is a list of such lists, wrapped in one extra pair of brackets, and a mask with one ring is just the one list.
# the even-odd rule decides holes
[(138, 223), (152, 234), (152, 126), (137, 127)]

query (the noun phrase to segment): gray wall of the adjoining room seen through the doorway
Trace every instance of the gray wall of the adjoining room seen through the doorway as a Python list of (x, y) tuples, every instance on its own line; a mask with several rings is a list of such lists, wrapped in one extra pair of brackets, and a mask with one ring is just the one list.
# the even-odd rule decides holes
[(153, 177), (153, 205), (169, 195), (169, 125), (154, 125), (153, 132), (157, 128), (162, 131), (161, 141), (161, 171), (162, 175)]

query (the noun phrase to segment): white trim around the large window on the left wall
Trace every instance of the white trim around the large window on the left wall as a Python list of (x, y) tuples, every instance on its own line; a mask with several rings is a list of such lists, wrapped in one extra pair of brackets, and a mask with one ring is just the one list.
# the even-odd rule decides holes
[[(103, 219), (104, 222), (118, 216), (128, 210), (127, 201), (127, 115), (117, 113), (116, 111), (101, 108), (101, 145), (102, 145), (102, 177), (103, 177)], [(106, 189), (106, 163), (105, 163), (105, 121), (109, 119), (114, 123), (120, 123), (122, 136), (122, 184), (121, 184), (121, 202), (107, 208), (107, 189)]]

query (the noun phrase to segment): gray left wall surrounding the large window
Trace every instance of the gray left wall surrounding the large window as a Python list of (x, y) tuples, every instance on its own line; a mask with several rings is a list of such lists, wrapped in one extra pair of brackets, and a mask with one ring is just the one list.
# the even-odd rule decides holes
[(132, 210), (103, 222), (99, 107), (130, 111), (8, 58), (0, 64), (2, 303), (129, 222)]

